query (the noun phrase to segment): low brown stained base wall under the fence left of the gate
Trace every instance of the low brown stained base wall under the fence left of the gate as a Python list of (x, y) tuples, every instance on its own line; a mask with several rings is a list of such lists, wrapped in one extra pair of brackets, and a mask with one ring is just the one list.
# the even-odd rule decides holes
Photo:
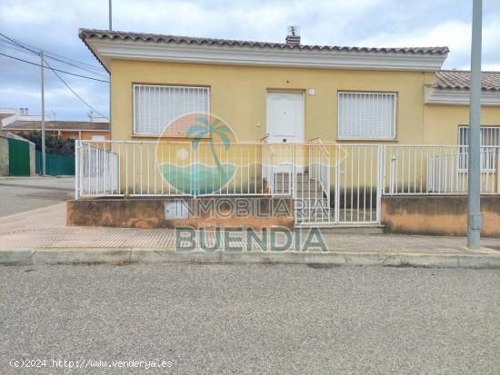
[[(165, 217), (165, 203), (183, 201), (195, 212), (195, 204), (205, 207), (214, 200), (214, 210), (189, 215), (185, 219)], [(195, 202), (196, 201), (196, 202)], [(236, 202), (248, 201), (258, 214), (236, 212)], [(244, 202), (245, 203), (245, 202)], [(245, 205), (245, 204), (243, 204)], [(241, 207), (240, 207), (241, 209)], [(288, 213), (289, 212), (289, 213)], [(289, 198), (224, 197), (224, 198), (134, 198), (134, 199), (82, 199), (66, 203), (66, 224), (70, 226), (107, 226), (121, 228), (194, 228), (280, 226), (293, 229), (293, 201)], [(197, 212), (195, 212), (197, 213)], [(245, 211), (243, 212), (245, 213)]]

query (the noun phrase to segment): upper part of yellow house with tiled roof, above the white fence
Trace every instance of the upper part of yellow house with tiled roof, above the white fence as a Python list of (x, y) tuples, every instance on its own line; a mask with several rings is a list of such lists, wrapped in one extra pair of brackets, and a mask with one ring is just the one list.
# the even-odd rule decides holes
[[(278, 44), (86, 29), (79, 35), (110, 73), (114, 140), (157, 137), (191, 112), (215, 113), (245, 141), (269, 134), (280, 142), (457, 144), (459, 126), (468, 123), (469, 75), (440, 70), (446, 47), (351, 48), (300, 44), (300, 37)], [(482, 123), (499, 126), (500, 73), (484, 73), (483, 90)], [(155, 98), (174, 96), (168, 110), (154, 107)]]

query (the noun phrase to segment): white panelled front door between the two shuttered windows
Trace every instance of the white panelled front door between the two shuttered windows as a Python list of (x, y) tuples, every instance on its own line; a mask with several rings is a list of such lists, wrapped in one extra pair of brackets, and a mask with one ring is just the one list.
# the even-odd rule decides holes
[(304, 142), (304, 94), (267, 93), (267, 141)]

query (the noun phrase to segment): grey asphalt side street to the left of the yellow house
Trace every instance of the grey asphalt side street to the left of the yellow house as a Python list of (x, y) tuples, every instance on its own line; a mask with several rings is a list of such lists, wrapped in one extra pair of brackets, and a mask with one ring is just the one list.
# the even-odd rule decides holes
[(73, 177), (0, 178), (0, 217), (64, 202), (74, 195)]

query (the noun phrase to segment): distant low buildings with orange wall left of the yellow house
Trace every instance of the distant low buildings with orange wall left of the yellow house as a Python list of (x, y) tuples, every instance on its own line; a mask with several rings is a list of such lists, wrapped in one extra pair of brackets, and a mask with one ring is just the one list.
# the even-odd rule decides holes
[[(27, 109), (19, 111), (0, 110), (2, 128), (11, 133), (23, 134), (30, 131), (40, 131), (41, 117), (27, 114)], [(14, 113), (12, 113), (14, 112)], [(89, 118), (89, 121), (54, 121), (45, 117), (45, 132), (58, 135), (64, 139), (109, 140), (109, 121), (103, 118)]]

